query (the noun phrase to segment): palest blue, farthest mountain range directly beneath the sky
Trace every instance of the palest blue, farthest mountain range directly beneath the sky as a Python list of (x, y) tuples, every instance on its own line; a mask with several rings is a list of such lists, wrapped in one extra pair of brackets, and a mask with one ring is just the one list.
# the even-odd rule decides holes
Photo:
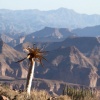
[(44, 27), (83, 28), (100, 25), (100, 15), (79, 14), (73, 10), (0, 10), (0, 32), (16, 36), (28, 34)]

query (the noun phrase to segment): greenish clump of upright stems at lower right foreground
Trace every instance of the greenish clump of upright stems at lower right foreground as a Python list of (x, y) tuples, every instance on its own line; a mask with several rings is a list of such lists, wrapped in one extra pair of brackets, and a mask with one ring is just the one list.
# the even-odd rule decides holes
[(93, 89), (84, 87), (78, 89), (65, 85), (63, 95), (68, 95), (71, 100), (99, 100)]

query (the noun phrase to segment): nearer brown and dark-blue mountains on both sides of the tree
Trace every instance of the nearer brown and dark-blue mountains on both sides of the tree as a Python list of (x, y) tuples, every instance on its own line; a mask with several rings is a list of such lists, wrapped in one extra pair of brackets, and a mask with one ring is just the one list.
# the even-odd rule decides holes
[[(16, 64), (15, 61), (25, 57), (22, 48), (33, 44), (28, 42), (19, 44), (15, 47), (17, 51), (2, 40), (0, 44), (1, 77), (25, 78), (28, 67), (27, 61), (20, 64)], [(45, 56), (48, 62), (43, 61), (45, 67), (42, 68), (38, 63), (36, 64), (36, 78), (90, 87), (99, 86), (100, 43), (98, 38), (69, 37), (61, 42), (37, 43), (36, 45), (40, 47), (45, 45), (44, 49), (49, 50)]]

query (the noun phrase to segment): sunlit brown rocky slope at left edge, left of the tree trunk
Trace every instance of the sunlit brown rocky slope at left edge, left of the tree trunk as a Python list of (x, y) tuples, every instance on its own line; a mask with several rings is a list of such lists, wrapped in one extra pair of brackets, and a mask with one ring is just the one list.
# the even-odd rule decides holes
[(27, 64), (15, 63), (18, 59), (24, 57), (24, 54), (14, 50), (2, 40), (0, 40), (0, 76), (3, 77), (26, 77)]

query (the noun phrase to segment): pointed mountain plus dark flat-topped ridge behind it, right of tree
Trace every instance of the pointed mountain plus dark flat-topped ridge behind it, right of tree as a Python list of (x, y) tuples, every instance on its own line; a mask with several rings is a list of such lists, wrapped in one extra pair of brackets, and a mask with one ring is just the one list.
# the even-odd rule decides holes
[(99, 84), (100, 43), (97, 38), (68, 38), (47, 44), (45, 50), (50, 50), (46, 56), (49, 63), (44, 63), (46, 69), (37, 68), (36, 77), (94, 87)]

